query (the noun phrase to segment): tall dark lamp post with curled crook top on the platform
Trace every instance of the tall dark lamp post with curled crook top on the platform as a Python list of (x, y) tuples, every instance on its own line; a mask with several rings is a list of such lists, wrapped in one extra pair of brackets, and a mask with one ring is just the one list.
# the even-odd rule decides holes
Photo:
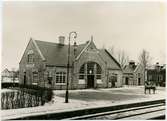
[[(73, 35), (73, 36), (72, 36)], [(68, 85), (69, 85), (69, 68), (70, 68), (70, 41), (71, 41), (71, 37), (73, 37), (74, 39), (77, 38), (77, 33), (72, 31), (69, 33), (69, 43), (68, 43), (68, 62), (67, 62), (67, 82), (66, 82), (66, 95), (65, 95), (65, 103), (68, 103)]]

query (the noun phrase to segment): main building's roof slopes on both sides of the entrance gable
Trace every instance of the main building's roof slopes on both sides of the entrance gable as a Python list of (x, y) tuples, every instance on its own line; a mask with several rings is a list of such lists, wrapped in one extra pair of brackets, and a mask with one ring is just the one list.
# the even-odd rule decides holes
[[(66, 66), (68, 58), (68, 45), (60, 45), (59, 43), (45, 42), (35, 40), (39, 50), (46, 59), (47, 65), (56, 66)], [(88, 42), (84, 44), (77, 45), (76, 56), (78, 56), (84, 47), (89, 44)], [(71, 45), (71, 61), (74, 60), (74, 46)], [(110, 69), (121, 69), (120, 64), (108, 53), (105, 49), (98, 49), (101, 58), (107, 62), (108, 68)], [(70, 63), (71, 64), (71, 63)]]

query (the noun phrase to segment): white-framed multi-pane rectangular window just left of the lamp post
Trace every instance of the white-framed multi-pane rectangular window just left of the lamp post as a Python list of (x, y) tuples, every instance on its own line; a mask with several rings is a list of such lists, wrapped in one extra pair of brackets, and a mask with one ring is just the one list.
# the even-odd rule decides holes
[(56, 73), (56, 83), (65, 83), (66, 82), (66, 73), (57, 72)]

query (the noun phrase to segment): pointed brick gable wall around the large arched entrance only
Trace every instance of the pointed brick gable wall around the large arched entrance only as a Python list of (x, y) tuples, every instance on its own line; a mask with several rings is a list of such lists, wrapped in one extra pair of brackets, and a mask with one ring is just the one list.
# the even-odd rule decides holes
[[(100, 55), (98, 54), (98, 50), (96, 49), (96, 47), (94, 46), (94, 44), (90, 44), (89, 47), (82, 53), (82, 55), (80, 56), (80, 58), (78, 60), (75, 61), (74, 63), (74, 81), (73, 81), (73, 88), (87, 88), (87, 76), (84, 76), (83, 80), (79, 81), (79, 70), (81, 68), (81, 66), (87, 62), (95, 62), (97, 64), (100, 65), (102, 73), (101, 73), (101, 80), (96, 80), (94, 82), (94, 86), (95, 88), (98, 87), (107, 87), (107, 83), (106, 83), (106, 69), (107, 66), (104, 62), (104, 60), (102, 60), (102, 58), (100, 57)], [(86, 71), (86, 70), (85, 70)]]

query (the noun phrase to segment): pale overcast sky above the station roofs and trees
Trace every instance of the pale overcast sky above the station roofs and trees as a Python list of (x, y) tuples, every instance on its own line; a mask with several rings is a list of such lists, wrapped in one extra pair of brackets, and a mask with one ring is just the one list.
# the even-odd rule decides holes
[(146, 49), (152, 63), (165, 63), (165, 14), (162, 2), (4, 2), (2, 69), (19, 67), (30, 37), (58, 42), (71, 31), (78, 44), (93, 35), (98, 48), (114, 46), (135, 61)]

